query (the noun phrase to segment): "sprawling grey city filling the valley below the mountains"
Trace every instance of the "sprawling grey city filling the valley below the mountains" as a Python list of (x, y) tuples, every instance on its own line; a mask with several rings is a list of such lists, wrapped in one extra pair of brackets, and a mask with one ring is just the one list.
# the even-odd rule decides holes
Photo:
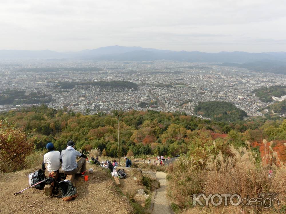
[[(225, 101), (244, 110), (247, 116), (262, 115), (264, 103), (252, 92), (261, 86), (285, 85), (282, 74), (257, 72), (219, 63), (178, 61), (119, 62), (46, 60), (2, 62), (0, 92), (25, 91), (43, 95), (50, 108), (83, 114), (112, 110), (158, 110), (194, 114), (202, 101)], [(99, 86), (98, 81), (128, 81), (137, 88)], [(62, 88), (58, 83), (75, 84)], [(273, 100), (274, 102), (274, 100)], [(41, 103), (0, 103), (0, 111)], [(199, 116), (199, 115), (198, 115)]]

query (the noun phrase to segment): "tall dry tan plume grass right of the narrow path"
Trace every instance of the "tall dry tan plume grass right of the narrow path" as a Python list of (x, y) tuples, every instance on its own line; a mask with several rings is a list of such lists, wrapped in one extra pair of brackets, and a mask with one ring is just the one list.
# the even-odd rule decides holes
[[(265, 143), (266, 141), (264, 141)], [(279, 213), (285, 208), (286, 167), (270, 144), (270, 152), (262, 161), (248, 147), (235, 149), (229, 147), (231, 156), (224, 157), (218, 151), (210, 154), (207, 160), (194, 165), (192, 157), (182, 157), (167, 168), (169, 196), (181, 210), (192, 208), (193, 194), (238, 194), (241, 198), (259, 198), (260, 193), (276, 193), (280, 206), (205, 206), (204, 213)], [(269, 163), (269, 164), (266, 164)], [(273, 164), (276, 163), (276, 164)], [(269, 179), (268, 171), (272, 167), (273, 175)], [(197, 207), (195, 207), (197, 208)], [(193, 209), (195, 209), (193, 208)]]

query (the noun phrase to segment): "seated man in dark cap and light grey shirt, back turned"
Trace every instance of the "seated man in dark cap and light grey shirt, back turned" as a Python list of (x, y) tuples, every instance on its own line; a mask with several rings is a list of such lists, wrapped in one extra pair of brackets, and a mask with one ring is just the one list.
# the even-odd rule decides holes
[[(86, 171), (86, 156), (75, 150), (74, 145), (73, 141), (69, 141), (67, 142), (67, 148), (61, 151), (63, 173), (72, 175), (80, 170), (83, 176)], [(76, 157), (81, 157), (81, 159), (76, 162)]]

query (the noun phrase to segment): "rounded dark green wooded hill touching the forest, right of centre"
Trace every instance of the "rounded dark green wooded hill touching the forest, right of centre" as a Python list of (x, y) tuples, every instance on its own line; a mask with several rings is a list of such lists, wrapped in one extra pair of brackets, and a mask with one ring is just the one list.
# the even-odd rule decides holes
[(247, 114), (229, 102), (202, 102), (195, 107), (194, 112), (215, 121), (243, 120)]

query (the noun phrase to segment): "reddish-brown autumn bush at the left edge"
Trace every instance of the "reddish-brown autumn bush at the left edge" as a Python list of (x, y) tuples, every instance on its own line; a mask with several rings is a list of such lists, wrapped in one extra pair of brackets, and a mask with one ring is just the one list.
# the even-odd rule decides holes
[(15, 171), (23, 167), (24, 158), (33, 150), (33, 143), (21, 129), (0, 121), (0, 171)]

